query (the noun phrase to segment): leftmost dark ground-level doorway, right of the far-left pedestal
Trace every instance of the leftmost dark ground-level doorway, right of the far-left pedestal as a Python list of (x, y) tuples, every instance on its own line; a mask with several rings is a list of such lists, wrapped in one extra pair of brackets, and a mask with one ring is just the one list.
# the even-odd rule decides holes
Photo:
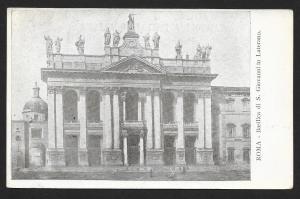
[(78, 136), (65, 135), (66, 166), (78, 166)]

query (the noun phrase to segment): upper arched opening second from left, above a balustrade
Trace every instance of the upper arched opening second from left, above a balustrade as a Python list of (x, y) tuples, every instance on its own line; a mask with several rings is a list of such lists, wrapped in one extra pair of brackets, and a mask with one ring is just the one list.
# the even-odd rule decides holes
[(100, 94), (97, 91), (89, 91), (86, 99), (86, 110), (88, 122), (100, 121)]

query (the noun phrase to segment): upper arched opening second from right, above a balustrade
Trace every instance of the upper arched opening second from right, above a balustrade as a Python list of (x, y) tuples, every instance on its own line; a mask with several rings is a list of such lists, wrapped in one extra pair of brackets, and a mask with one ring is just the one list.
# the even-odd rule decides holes
[(163, 122), (173, 123), (175, 121), (174, 117), (174, 102), (175, 97), (171, 92), (165, 92), (162, 95), (162, 109), (163, 109)]

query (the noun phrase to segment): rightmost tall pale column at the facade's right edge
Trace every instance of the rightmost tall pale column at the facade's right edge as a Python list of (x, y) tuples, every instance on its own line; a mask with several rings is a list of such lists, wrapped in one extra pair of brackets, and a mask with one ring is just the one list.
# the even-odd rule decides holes
[(205, 97), (205, 148), (212, 148), (211, 137), (211, 97)]

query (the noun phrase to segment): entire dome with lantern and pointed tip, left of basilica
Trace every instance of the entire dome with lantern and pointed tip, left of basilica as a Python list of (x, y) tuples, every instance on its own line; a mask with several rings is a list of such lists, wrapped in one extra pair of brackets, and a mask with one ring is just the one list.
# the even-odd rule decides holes
[(33, 97), (31, 100), (26, 102), (23, 112), (48, 113), (48, 105), (42, 98), (40, 98), (39, 91), (40, 88), (37, 86), (37, 83), (35, 83), (35, 86), (33, 87)]

